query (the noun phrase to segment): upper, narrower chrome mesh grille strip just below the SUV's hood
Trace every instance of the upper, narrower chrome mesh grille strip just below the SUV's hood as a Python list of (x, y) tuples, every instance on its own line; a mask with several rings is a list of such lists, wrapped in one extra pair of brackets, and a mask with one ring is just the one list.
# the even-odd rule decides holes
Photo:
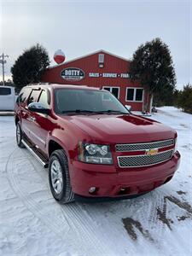
[(130, 144), (117, 144), (115, 145), (116, 152), (125, 152), (125, 151), (137, 151), (137, 150), (146, 150), (152, 148), (165, 148), (174, 146), (174, 140), (166, 140), (154, 143), (130, 143)]

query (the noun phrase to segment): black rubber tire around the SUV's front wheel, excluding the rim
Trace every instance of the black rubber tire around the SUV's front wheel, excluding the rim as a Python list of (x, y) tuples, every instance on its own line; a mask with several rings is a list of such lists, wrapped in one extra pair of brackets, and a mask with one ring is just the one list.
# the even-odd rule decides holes
[[(51, 177), (51, 167), (53, 168), (53, 163), (59, 161), (61, 166), (61, 177), (62, 177), (62, 189), (61, 192), (55, 192), (53, 187), (53, 178)], [(52, 195), (54, 196), (55, 200), (61, 204), (67, 204), (69, 202), (74, 201), (74, 193), (72, 191), (72, 186), (70, 182), (69, 170), (68, 170), (68, 160), (67, 156), (62, 149), (55, 150), (49, 160), (49, 186)]]

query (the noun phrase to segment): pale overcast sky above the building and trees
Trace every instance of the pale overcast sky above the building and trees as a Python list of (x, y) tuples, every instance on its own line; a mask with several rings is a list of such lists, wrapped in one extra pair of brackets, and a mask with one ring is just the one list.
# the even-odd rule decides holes
[(98, 49), (131, 58), (140, 44), (159, 37), (171, 50), (177, 88), (192, 82), (190, 0), (0, 0), (0, 7), (0, 54), (9, 55), (6, 78), (16, 58), (36, 43), (44, 45), (54, 65), (56, 49), (67, 61)]

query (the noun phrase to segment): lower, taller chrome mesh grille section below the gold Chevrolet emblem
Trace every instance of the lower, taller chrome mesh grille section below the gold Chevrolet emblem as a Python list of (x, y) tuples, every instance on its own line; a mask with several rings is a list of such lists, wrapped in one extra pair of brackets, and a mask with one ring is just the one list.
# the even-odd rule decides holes
[(142, 167), (153, 166), (170, 160), (172, 158), (173, 150), (167, 150), (158, 154), (142, 154), (136, 156), (119, 156), (119, 167)]

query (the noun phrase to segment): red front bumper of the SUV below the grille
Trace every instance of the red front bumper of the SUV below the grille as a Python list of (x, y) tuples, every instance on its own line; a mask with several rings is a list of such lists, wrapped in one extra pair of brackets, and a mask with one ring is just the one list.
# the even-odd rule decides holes
[[(171, 180), (179, 163), (178, 152), (164, 163), (138, 168), (117, 168), (73, 161), (70, 165), (72, 189), (77, 198), (122, 199), (142, 195)], [(90, 194), (90, 187), (96, 187), (96, 192)]]

